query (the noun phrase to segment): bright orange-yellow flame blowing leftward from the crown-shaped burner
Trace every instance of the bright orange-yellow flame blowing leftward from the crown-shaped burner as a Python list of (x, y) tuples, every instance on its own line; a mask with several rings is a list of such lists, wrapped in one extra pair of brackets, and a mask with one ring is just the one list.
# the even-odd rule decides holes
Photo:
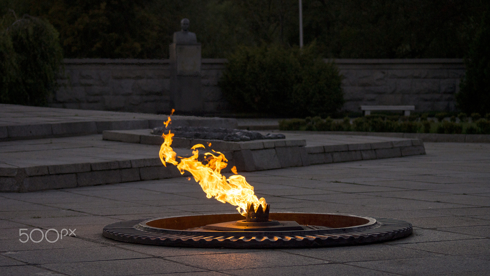
[[(171, 119), (169, 117), (169, 123)], [(167, 126), (167, 125), (166, 125)], [(233, 166), (232, 171), (235, 175), (226, 178), (221, 175), (221, 169), (225, 168), (228, 161), (221, 152), (214, 151), (213, 153), (206, 152), (205, 160), (207, 164), (203, 164), (197, 161), (199, 156), (199, 151), (197, 148), (204, 148), (202, 144), (196, 144), (192, 147), (193, 155), (188, 158), (181, 158), (180, 162), (175, 160), (176, 153), (173, 151), (172, 137), (173, 133), (169, 130), (169, 134), (163, 134), (164, 142), (160, 147), (160, 160), (164, 166), (170, 163), (177, 166), (180, 173), (183, 174), (185, 171), (189, 171), (196, 182), (199, 183), (202, 190), (206, 193), (207, 198), (214, 197), (223, 203), (230, 203), (232, 205), (238, 206), (237, 210), (243, 216), (246, 216), (246, 208), (248, 203), (253, 203), (255, 206), (255, 211), (262, 205), (262, 208), (266, 208), (266, 200), (262, 197), (260, 199), (253, 192), (253, 186), (248, 184), (245, 177), (236, 174), (236, 167)]]

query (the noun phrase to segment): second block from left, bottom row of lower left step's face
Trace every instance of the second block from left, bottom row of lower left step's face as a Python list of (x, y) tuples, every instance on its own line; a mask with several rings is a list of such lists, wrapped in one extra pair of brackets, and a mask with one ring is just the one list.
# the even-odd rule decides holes
[(20, 192), (34, 192), (49, 189), (76, 187), (76, 174), (51, 174), (26, 177), (21, 184)]

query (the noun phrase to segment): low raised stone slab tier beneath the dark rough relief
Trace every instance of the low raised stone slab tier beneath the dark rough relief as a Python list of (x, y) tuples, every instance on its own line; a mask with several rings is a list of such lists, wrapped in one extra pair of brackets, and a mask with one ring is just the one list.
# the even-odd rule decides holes
[[(158, 145), (163, 143), (162, 137), (152, 135), (150, 132), (150, 129), (104, 131), (102, 137), (105, 140), (131, 143)], [(228, 153), (237, 168), (245, 171), (425, 154), (425, 148), (419, 139), (370, 137), (360, 142), (359, 138), (350, 136), (336, 136), (334, 140), (332, 136), (327, 135), (323, 141), (312, 139), (307, 142), (308, 137), (305, 135), (296, 136), (299, 139), (292, 137), (294, 134), (286, 134), (286, 139), (246, 142), (174, 137), (172, 144), (180, 148), (190, 148), (195, 144), (211, 142), (213, 149)], [(301, 139), (301, 137), (305, 138)]]

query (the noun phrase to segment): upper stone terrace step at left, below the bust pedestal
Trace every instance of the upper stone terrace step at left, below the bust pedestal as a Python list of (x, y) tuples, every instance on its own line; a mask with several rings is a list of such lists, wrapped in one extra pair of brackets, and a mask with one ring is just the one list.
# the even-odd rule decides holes
[[(161, 127), (167, 115), (0, 104), (0, 141), (73, 137)], [(236, 128), (232, 118), (172, 116), (174, 126)]]

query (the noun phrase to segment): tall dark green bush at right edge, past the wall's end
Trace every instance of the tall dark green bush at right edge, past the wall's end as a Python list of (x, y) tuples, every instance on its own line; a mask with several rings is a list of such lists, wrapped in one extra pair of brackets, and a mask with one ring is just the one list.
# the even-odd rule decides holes
[(458, 108), (466, 113), (490, 112), (490, 10), (482, 18), (469, 46), (466, 73), (455, 96)]

